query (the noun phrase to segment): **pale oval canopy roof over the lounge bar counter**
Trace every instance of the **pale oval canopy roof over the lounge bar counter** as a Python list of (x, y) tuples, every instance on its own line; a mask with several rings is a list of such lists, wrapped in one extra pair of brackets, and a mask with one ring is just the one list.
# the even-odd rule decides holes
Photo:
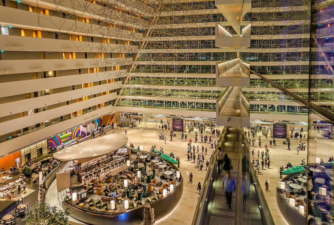
[(74, 144), (55, 152), (53, 157), (61, 161), (85, 162), (106, 155), (123, 147), (127, 143), (127, 136), (123, 134), (109, 134)]

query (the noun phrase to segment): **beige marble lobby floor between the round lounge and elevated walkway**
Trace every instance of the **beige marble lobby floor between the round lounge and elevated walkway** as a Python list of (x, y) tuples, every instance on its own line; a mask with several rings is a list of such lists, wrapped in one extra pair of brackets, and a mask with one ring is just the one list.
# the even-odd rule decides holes
[[(167, 141), (166, 144), (164, 141), (159, 140), (159, 131), (148, 130), (141, 128), (127, 128), (127, 136), (129, 137), (128, 143), (134, 144), (134, 146), (143, 145), (144, 150), (149, 151), (152, 145), (156, 145), (156, 148), (163, 148), (166, 154), (173, 152), (175, 157), (180, 157), (180, 172), (184, 177), (184, 186), (183, 186), (183, 195), (179, 202), (179, 205), (175, 208), (175, 211), (164, 221), (159, 224), (173, 224), (173, 225), (186, 225), (191, 224), (194, 212), (197, 205), (198, 191), (197, 184), (201, 182), (203, 184), (206, 170), (203, 167), (203, 170), (195, 168), (195, 164), (187, 160), (187, 149), (188, 149), (188, 140), (189, 133), (187, 132), (187, 141), (181, 140), (181, 133), (175, 132), (176, 137), (173, 137), (173, 141)], [(165, 131), (166, 133), (166, 131)], [(123, 131), (123, 134), (125, 132)], [(167, 131), (167, 134), (169, 132)], [(204, 134), (204, 133), (203, 133)], [(206, 133), (205, 133), (206, 134)], [(201, 144), (200, 141), (195, 142), (195, 132), (191, 132), (190, 138), (193, 140), (193, 144), (197, 147), (199, 146), (199, 153), (201, 153), (202, 145), (204, 149), (207, 148), (207, 155), (204, 155), (205, 161), (210, 159), (211, 153), (214, 148), (211, 148), (211, 145), (208, 143)], [(214, 137), (213, 140), (218, 140), (217, 137)], [(195, 151), (196, 153), (196, 151)], [(197, 153), (196, 153), (197, 154)], [(197, 166), (197, 165), (196, 165)], [(193, 183), (189, 182), (189, 174), (193, 174)]]

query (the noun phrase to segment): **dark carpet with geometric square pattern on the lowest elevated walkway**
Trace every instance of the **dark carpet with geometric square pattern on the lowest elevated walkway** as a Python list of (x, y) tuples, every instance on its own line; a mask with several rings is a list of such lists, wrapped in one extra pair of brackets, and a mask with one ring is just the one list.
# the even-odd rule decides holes
[[(208, 207), (205, 211), (205, 216), (202, 224), (210, 225), (240, 225), (240, 224), (262, 224), (259, 206), (256, 200), (254, 186), (250, 187), (250, 194), (245, 199), (245, 206), (242, 200), (241, 192), (241, 157), (240, 157), (240, 141), (239, 130), (230, 129), (227, 135), (227, 140), (223, 143), (223, 152), (228, 154), (231, 159), (233, 169), (231, 176), (236, 180), (236, 189), (232, 193), (232, 204), (229, 209), (226, 204), (226, 195), (222, 189), (222, 179), (224, 172), (218, 174), (218, 169), (215, 171), (215, 180), (212, 183), (211, 191), (208, 199)], [(241, 149), (241, 151), (244, 151)], [(239, 221), (241, 220), (241, 221)]]

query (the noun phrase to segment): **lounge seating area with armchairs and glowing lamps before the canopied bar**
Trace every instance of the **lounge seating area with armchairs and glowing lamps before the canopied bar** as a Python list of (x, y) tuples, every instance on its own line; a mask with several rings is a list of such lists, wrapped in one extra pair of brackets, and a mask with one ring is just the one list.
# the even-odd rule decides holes
[[(153, 160), (160, 165), (160, 172), (156, 172), (156, 165), (146, 161), (139, 162), (139, 159), (136, 159), (130, 165), (130, 170), (121, 171), (113, 176), (106, 174), (101, 180), (92, 178), (85, 187), (89, 190), (89, 200), (83, 202), (84, 207), (100, 211), (129, 210), (162, 198), (163, 189), (166, 189), (168, 194), (170, 184), (174, 185), (175, 169), (163, 160)], [(170, 175), (166, 176), (164, 172), (167, 169), (171, 171), (168, 172)], [(91, 189), (94, 190), (94, 194)], [(129, 201), (128, 208), (125, 208), (125, 200)], [(112, 204), (113, 207), (115, 204), (115, 208)]]

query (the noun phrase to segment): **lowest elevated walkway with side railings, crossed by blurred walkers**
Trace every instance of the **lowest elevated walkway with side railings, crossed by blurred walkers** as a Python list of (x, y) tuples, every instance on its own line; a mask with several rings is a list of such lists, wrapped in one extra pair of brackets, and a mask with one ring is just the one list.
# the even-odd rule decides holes
[[(225, 173), (218, 174), (218, 146), (230, 158), (233, 167), (230, 174), (236, 181), (231, 209), (222, 189)], [(243, 129), (225, 127), (211, 160), (192, 224), (274, 225), (254, 169), (249, 167), (248, 156), (249, 142)]]

